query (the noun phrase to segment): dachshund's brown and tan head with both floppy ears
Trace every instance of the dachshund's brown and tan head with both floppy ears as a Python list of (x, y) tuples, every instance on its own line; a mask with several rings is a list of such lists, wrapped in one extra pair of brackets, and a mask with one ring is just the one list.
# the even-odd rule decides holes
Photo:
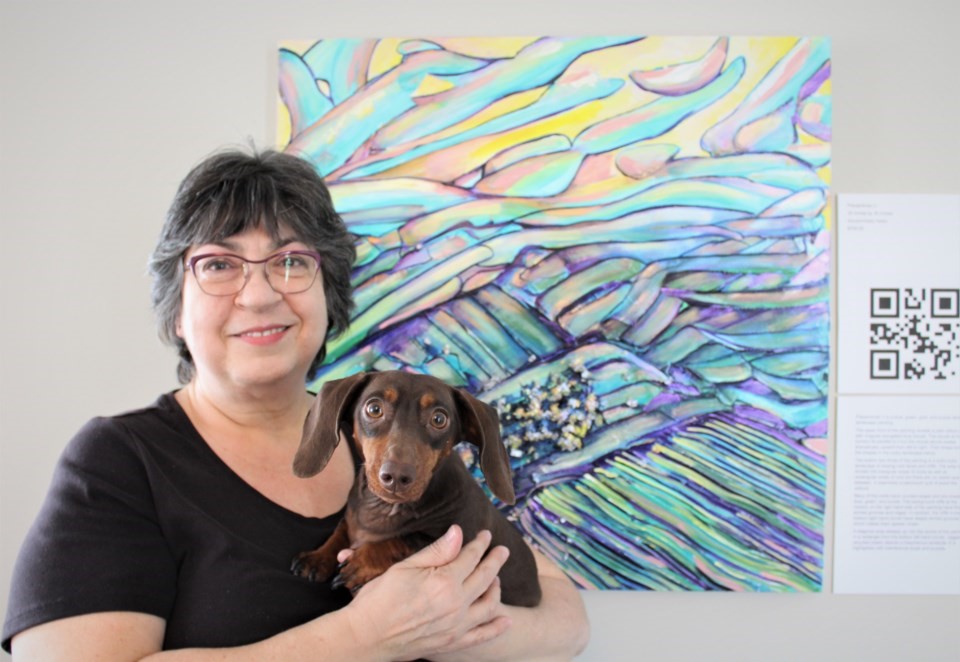
[(496, 409), (434, 377), (389, 371), (324, 384), (304, 424), (294, 473), (322, 470), (340, 434), (363, 458), (370, 489), (385, 501), (419, 499), (460, 441), (480, 450), (480, 469), (497, 498), (516, 500)]

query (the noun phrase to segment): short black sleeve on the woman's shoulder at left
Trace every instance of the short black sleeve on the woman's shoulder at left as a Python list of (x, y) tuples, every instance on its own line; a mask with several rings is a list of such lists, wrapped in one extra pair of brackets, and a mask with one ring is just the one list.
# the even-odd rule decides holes
[(61, 456), (14, 566), (3, 648), (49, 621), (104, 611), (166, 618), (176, 565), (143, 458), (119, 419), (99, 418)]

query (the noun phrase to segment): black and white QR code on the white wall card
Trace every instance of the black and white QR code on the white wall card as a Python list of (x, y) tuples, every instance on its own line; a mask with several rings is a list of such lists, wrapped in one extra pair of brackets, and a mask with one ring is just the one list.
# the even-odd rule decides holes
[(870, 379), (956, 379), (960, 290), (870, 290)]

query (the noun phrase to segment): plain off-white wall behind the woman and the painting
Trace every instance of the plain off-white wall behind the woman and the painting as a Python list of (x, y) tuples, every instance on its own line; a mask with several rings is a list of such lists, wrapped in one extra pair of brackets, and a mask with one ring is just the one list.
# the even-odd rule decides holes
[[(957, 193), (958, 19), (949, 0), (0, 0), (0, 612), (66, 440), (176, 385), (146, 258), (194, 163), (272, 143), (279, 40), (829, 35), (834, 191)], [(584, 659), (957, 659), (960, 598), (836, 596), (830, 569), (815, 595), (589, 592)]]

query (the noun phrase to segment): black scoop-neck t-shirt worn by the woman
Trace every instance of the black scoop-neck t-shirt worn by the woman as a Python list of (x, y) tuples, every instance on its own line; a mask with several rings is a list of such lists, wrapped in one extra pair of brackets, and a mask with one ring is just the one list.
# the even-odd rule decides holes
[(303, 517), (254, 490), (172, 394), (94, 419), (60, 458), (20, 550), (3, 648), (32, 626), (103, 611), (166, 619), (165, 649), (260, 641), (349, 601), (290, 573), (341, 514)]

